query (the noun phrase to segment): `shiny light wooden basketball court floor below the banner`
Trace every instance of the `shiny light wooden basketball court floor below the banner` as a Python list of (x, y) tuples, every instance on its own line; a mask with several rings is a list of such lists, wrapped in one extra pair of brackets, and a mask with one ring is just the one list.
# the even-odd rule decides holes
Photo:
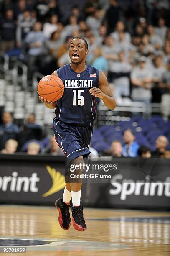
[(0, 255), (23, 246), (26, 256), (170, 256), (169, 212), (85, 208), (84, 216), (86, 231), (63, 230), (55, 207), (0, 205)]

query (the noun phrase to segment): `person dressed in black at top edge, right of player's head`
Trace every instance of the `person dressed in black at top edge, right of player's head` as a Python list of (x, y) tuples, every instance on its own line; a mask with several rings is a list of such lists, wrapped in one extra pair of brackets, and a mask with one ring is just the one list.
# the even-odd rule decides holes
[(114, 31), (117, 21), (120, 20), (121, 16), (121, 8), (119, 7), (118, 0), (111, 0), (109, 9), (105, 14), (108, 34)]

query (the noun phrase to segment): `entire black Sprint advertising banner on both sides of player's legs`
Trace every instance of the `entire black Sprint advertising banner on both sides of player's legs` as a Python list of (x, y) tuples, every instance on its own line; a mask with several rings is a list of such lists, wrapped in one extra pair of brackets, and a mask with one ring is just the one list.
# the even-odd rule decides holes
[[(91, 207), (170, 208), (169, 159), (94, 159), (82, 166)], [(0, 202), (53, 205), (65, 187), (64, 158), (0, 155)], [(71, 178), (76, 166), (71, 166)]]

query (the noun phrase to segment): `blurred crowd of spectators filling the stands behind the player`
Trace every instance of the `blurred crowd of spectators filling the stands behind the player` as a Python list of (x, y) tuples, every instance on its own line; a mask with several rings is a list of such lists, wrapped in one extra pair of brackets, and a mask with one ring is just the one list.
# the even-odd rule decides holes
[[(28, 66), (28, 81), (33, 72), (51, 74), (53, 70), (68, 64), (69, 42), (74, 36), (86, 38), (89, 54), (86, 62), (107, 75), (114, 97), (130, 98), (134, 102), (144, 102), (150, 113), (150, 103), (162, 105), (164, 120), (170, 115), (170, 3), (168, 0), (87, 0), (84, 5), (71, 5), (63, 11), (62, 1), (57, 0), (1, 0), (0, 1), (0, 51)], [(169, 107), (168, 107), (169, 106)], [(4, 115), (9, 122), (4, 123)], [(61, 154), (60, 148), (53, 148), (53, 138), (43, 145), (36, 142), (25, 146), (22, 141), (25, 129), (34, 126), (36, 135), (29, 140), (40, 140), (41, 127), (35, 120), (19, 129), (12, 124), (12, 116), (2, 116), (0, 131), (12, 129), (15, 136), (5, 138), (2, 153), (8, 152), (9, 143), (13, 150), (35, 153)], [(33, 115), (31, 117), (34, 119)], [(30, 118), (30, 119), (31, 119)], [(6, 122), (6, 121), (5, 121)], [(25, 128), (26, 127), (26, 128)], [(39, 129), (39, 130), (38, 130)], [(42, 131), (41, 131), (42, 132)], [(16, 134), (19, 134), (16, 136)], [(124, 144), (119, 141), (103, 154), (113, 156), (150, 156), (150, 148), (140, 148), (132, 131), (124, 132)], [(17, 139), (17, 141), (14, 140)], [(11, 141), (13, 140), (13, 141)], [(163, 156), (168, 139), (163, 146), (156, 146), (157, 156)], [(25, 148), (23, 148), (25, 146)], [(56, 145), (55, 145), (56, 146)], [(57, 146), (56, 146), (57, 147)], [(161, 149), (159, 149), (159, 147)], [(10, 147), (11, 148), (11, 147)], [(53, 148), (53, 149), (52, 149)], [(119, 153), (115, 150), (119, 149)], [(16, 151), (14, 150), (14, 152)], [(91, 149), (92, 150), (92, 149)], [(135, 151), (135, 153), (132, 151)], [(11, 154), (11, 153), (10, 153)], [(29, 153), (28, 153), (29, 154)], [(98, 154), (94, 152), (94, 155)]]

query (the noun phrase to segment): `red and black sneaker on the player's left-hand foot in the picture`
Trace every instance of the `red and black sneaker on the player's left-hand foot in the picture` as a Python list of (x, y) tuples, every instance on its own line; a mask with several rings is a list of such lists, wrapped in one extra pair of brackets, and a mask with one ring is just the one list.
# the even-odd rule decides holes
[(55, 205), (59, 212), (58, 221), (61, 228), (63, 228), (64, 230), (68, 230), (71, 225), (69, 212), (70, 205), (67, 205), (65, 202), (63, 202), (62, 198), (56, 200)]

